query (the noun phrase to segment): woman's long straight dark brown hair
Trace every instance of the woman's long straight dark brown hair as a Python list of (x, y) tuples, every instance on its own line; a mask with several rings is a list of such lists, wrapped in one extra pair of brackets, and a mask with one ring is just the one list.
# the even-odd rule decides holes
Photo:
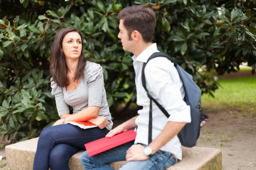
[(53, 81), (55, 81), (59, 87), (66, 87), (70, 84), (69, 79), (67, 77), (67, 63), (65, 60), (65, 55), (61, 51), (63, 38), (69, 32), (77, 32), (81, 37), (82, 43), (82, 51), (79, 57), (73, 81), (78, 82), (80, 78), (84, 78), (84, 68), (87, 62), (87, 60), (84, 58), (84, 45), (81, 33), (76, 28), (64, 28), (61, 31), (59, 31), (51, 46), (50, 59), (50, 73), (52, 75)]

